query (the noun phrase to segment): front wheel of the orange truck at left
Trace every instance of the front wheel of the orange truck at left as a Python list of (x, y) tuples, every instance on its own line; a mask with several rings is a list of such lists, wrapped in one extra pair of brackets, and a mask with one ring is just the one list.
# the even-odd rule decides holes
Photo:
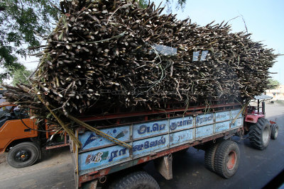
[(7, 162), (15, 168), (23, 168), (35, 164), (40, 155), (40, 149), (33, 142), (22, 142), (9, 151)]

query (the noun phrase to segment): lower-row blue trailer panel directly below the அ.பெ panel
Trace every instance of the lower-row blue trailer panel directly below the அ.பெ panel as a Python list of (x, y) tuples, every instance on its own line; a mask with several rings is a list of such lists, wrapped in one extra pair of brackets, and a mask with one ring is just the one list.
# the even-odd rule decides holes
[(153, 151), (162, 151), (168, 146), (168, 134), (133, 142), (133, 156), (146, 156)]

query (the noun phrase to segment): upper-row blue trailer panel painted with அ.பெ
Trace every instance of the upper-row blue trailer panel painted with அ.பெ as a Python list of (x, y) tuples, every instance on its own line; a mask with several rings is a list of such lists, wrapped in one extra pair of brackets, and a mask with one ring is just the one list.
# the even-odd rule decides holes
[(149, 137), (154, 134), (168, 132), (168, 120), (138, 123), (133, 125), (133, 139)]

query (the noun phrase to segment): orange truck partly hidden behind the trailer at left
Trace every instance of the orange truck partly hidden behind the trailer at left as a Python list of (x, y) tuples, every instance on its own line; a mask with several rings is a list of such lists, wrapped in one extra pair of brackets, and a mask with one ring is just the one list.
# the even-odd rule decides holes
[(16, 105), (0, 103), (0, 154), (8, 152), (10, 166), (22, 168), (35, 164), (40, 159), (41, 147), (53, 149), (69, 145), (66, 134), (55, 134), (52, 130), (46, 132), (47, 125), (45, 130), (38, 130), (35, 121)]

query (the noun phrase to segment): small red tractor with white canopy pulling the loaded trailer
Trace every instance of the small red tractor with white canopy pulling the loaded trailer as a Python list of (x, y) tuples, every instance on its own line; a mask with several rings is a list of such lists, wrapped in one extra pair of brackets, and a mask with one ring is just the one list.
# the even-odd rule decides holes
[[(271, 100), (271, 96), (255, 96), (257, 106), (249, 105), (245, 113), (245, 134), (249, 133), (251, 145), (256, 149), (266, 149), (271, 139), (278, 136), (276, 122), (266, 119), (265, 101)], [(261, 106), (260, 106), (261, 105)]]

